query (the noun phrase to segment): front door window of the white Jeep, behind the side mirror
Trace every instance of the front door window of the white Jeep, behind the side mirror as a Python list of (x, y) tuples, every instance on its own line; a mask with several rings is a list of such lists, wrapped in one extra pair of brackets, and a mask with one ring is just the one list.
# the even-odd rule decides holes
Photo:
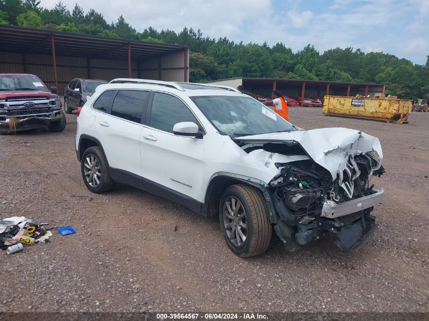
[(174, 125), (180, 122), (199, 124), (189, 108), (179, 98), (155, 92), (149, 126), (172, 133)]

